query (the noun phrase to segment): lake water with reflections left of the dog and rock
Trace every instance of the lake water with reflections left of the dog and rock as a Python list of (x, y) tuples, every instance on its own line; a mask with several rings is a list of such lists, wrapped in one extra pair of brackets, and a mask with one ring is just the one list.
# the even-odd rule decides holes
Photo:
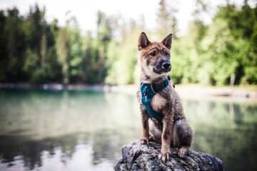
[[(44, 170), (51, 158), (60, 170), (78, 161), (77, 170), (112, 170), (122, 145), (140, 137), (140, 122), (133, 95), (1, 90), (0, 169)], [(85, 150), (80, 145), (87, 150), (74, 160)]]

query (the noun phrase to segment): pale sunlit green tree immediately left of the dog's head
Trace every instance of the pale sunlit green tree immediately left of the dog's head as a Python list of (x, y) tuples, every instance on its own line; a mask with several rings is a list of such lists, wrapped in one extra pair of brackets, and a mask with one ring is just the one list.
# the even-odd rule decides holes
[[(113, 41), (109, 46), (109, 68), (106, 83), (108, 84), (133, 84), (139, 81), (139, 71), (136, 68), (137, 50), (136, 44), (138, 35), (141, 33), (141, 26), (131, 21), (125, 24), (129, 28), (123, 41)], [(115, 47), (116, 46), (116, 47)]]

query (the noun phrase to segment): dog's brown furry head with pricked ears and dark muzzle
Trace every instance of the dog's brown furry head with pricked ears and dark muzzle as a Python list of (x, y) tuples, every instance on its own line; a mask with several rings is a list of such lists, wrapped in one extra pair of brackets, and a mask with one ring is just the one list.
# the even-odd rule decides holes
[(146, 33), (138, 38), (138, 64), (141, 71), (148, 77), (158, 78), (171, 71), (171, 42), (172, 34), (161, 42), (149, 41)]

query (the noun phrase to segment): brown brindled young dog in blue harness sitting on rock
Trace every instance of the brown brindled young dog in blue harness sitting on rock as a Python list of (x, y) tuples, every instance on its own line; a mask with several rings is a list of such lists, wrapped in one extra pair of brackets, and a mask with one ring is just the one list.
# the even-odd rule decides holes
[(144, 32), (138, 38), (141, 83), (137, 98), (143, 125), (141, 144), (148, 145), (149, 140), (161, 144), (158, 158), (163, 162), (171, 158), (171, 147), (178, 148), (179, 157), (186, 157), (193, 142), (193, 130), (168, 74), (171, 71), (171, 43), (172, 33), (161, 42), (149, 41)]

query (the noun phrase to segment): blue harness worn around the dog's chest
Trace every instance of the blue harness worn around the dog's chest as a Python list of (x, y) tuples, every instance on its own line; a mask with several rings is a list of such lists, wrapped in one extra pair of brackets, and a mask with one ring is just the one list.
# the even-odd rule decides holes
[[(141, 94), (142, 94), (142, 103), (146, 107), (147, 113), (150, 115), (151, 118), (161, 119), (163, 115), (161, 113), (157, 113), (150, 107), (151, 100), (153, 99), (153, 95), (158, 93), (163, 88), (168, 86), (168, 81), (171, 80), (171, 76), (168, 76), (164, 80), (163, 83), (156, 85), (151, 83), (141, 83)], [(173, 85), (174, 87), (175, 85)]]

